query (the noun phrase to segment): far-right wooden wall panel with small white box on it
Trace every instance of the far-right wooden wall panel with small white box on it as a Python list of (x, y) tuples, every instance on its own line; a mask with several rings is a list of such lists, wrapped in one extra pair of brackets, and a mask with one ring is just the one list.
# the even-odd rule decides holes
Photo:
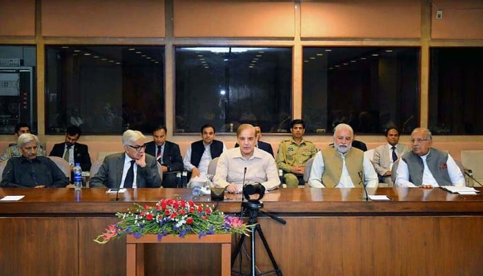
[(431, 9), (431, 38), (483, 39), (483, 2), (481, 0), (439, 0), (437, 9), (442, 19), (436, 19), (436, 7)]

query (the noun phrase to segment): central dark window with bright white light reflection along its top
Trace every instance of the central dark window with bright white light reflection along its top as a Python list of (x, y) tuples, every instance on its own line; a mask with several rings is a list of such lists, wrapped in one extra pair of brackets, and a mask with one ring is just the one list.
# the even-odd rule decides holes
[[(292, 48), (177, 47), (175, 132), (264, 132), (286, 129), (292, 91)], [(285, 120), (285, 121), (284, 121)], [(286, 131), (286, 130), (285, 130)]]

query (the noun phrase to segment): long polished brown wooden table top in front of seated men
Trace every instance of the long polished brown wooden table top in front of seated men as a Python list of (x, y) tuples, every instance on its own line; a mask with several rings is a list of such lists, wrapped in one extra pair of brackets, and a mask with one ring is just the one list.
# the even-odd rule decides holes
[[(483, 188), (476, 188), (483, 191)], [(390, 201), (366, 201), (362, 188), (286, 188), (264, 195), (262, 210), (286, 215), (483, 215), (483, 195), (457, 195), (441, 188), (368, 188), (369, 195), (387, 195)], [(215, 204), (210, 196), (193, 196), (191, 189), (139, 188), (107, 194), (103, 188), (0, 188), (0, 198), (24, 195), (19, 201), (0, 201), (0, 215), (114, 215), (134, 203), (154, 205), (160, 199), (180, 197), (198, 204)], [(239, 213), (242, 195), (226, 194), (217, 208)]]

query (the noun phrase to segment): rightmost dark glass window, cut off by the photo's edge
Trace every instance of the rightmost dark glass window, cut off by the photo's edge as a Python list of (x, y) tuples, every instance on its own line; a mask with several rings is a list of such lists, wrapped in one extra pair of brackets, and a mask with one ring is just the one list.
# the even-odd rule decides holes
[(483, 134), (483, 48), (431, 48), (428, 126), (434, 134)]

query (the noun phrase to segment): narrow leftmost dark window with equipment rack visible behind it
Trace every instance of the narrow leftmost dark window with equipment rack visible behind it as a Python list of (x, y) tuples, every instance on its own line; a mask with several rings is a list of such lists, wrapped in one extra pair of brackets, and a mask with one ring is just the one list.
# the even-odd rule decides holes
[(0, 46), (0, 134), (17, 123), (37, 133), (37, 55), (35, 46)]

